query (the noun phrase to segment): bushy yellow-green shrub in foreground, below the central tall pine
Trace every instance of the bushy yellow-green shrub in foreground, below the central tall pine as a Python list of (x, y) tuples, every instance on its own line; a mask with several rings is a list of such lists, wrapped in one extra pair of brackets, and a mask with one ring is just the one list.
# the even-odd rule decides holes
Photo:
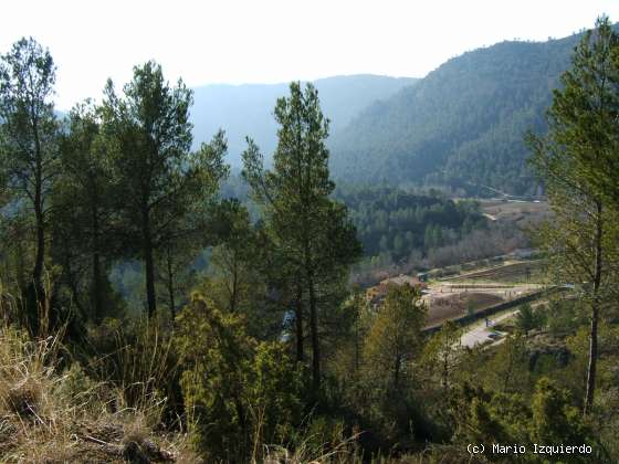
[[(178, 316), (181, 387), (197, 449), (245, 461), (261, 443), (282, 444), (301, 420), (301, 372), (279, 342), (256, 342), (237, 314), (193, 295)], [(256, 449), (258, 446), (258, 449)]]

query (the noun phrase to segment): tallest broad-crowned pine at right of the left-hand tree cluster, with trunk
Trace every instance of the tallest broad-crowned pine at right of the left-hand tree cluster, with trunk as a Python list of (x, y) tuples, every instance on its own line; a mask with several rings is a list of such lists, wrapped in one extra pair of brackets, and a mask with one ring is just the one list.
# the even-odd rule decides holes
[(115, 94), (111, 81), (105, 94), (103, 124), (120, 187), (124, 232), (144, 261), (153, 316), (156, 253), (201, 228), (204, 207), (228, 175), (227, 141), (220, 131), (198, 152), (190, 151), (191, 91), (182, 81), (170, 87), (155, 62), (134, 67), (124, 98)]

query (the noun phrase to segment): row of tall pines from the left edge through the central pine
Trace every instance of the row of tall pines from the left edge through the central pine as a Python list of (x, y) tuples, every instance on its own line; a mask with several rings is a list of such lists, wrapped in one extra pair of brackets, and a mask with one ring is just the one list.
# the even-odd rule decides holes
[[(293, 83), (290, 97), (277, 99), (272, 170), (248, 139), (243, 176), (263, 218), (255, 224), (238, 201), (219, 196), (229, 172), (224, 133), (191, 150), (192, 93), (181, 80), (170, 85), (157, 63), (134, 67), (120, 93), (108, 81), (101, 104), (80, 103), (65, 119), (54, 112), (49, 51), (22, 39), (1, 64), (2, 224), (12, 238), (2, 252), (13, 264), (4, 278), (19, 295), (17, 319), (42, 335), (66, 320), (117, 315), (109, 268), (134, 259), (143, 263), (146, 317), (156, 317), (162, 292), (174, 320), (187, 302), (177, 294), (183, 271), (199, 251), (221, 245), (211, 287), (225, 278), (224, 306), (237, 313), (250, 299), (241, 296), (243, 272), (261, 268), (280, 313), (292, 308), (298, 361), (310, 333), (318, 389), (318, 313), (346, 282), (360, 245), (346, 208), (331, 199), (328, 120), (315, 87)], [(258, 243), (266, 255), (252, 247)]]

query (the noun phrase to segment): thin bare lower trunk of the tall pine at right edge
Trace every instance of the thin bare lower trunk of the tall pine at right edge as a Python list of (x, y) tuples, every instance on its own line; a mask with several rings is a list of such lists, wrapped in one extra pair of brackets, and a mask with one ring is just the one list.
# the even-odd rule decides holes
[(585, 393), (584, 414), (591, 411), (594, 404), (594, 393), (596, 389), (596, 369), (598, 361), (598, 317), (599, 317), (599, 287), (601, 283), (601, 260), (602, 260), (602, 218), (601, 201), (596, 200), (596, 236), (595, 236), (595, 271), (594, 271), (594, 294), (591, 298), (591, 328), (589, 333), (589, 366), (587, 367), (587, 391)]

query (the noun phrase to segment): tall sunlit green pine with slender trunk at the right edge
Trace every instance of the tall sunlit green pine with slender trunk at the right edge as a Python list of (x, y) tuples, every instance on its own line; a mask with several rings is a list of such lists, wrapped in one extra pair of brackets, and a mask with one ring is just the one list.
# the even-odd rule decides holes
[(616, 176), (619, 162), (618, 45), (608, 18), (599, 19), (575, 49), (563, 88), (554, 92), (547, 136), (528, 136), (532, 162), (554, 212), (541, 234), (543, 245), (562, 283), (576, 284), (590, 309), (585, 413), (594, 402), (600, 308), (613, 287), (617, 209), (608, 198), (609, 176)]

